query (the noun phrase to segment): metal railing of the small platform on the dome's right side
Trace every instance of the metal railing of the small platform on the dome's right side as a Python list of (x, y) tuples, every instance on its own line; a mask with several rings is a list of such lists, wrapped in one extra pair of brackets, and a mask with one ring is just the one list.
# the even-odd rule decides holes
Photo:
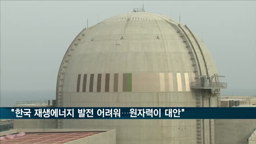
[(221, 82), (211, 82), (211, 83), (191, 82), (191, 88), (196, 88), (196, 89), (222, 89), (222, 88), (227, 88), (227, 83), (221, 83)]

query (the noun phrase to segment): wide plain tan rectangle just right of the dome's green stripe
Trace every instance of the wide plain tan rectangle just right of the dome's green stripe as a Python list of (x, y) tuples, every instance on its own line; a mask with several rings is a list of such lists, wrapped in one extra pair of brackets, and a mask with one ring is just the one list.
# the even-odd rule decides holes
[(132, 92), (159, 92), (159, 74), (153, 72), (132, 73)]

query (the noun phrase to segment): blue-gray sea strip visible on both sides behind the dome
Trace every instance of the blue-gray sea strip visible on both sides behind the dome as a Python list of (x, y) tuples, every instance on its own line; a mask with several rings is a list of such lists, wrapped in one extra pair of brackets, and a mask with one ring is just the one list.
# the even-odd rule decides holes
[[(223, 89), (221, 96), (256, 96), (256, 89)], [(0, 107), (13, 107), (16, 101), (55, 100), (56, 91), (12, 91), (0, 92)]]

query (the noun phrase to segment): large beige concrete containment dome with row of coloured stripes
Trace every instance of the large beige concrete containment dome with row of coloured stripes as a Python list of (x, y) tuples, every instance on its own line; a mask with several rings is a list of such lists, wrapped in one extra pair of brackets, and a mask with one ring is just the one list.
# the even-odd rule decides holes
[[(217, 107), (217, 76), (186, 25), (130, 12), (76, 36), (60, 65), (57, 106)], [(216, 144), (215, 120), (58, 120), (57, 127), (116, 129), (117, 144)]]

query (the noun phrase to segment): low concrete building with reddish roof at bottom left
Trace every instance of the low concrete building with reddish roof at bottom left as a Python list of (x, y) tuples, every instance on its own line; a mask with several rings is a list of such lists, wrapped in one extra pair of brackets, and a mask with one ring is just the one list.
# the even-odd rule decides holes
[(116, 144), (115, 129), (12, 129), (0, 144)]

